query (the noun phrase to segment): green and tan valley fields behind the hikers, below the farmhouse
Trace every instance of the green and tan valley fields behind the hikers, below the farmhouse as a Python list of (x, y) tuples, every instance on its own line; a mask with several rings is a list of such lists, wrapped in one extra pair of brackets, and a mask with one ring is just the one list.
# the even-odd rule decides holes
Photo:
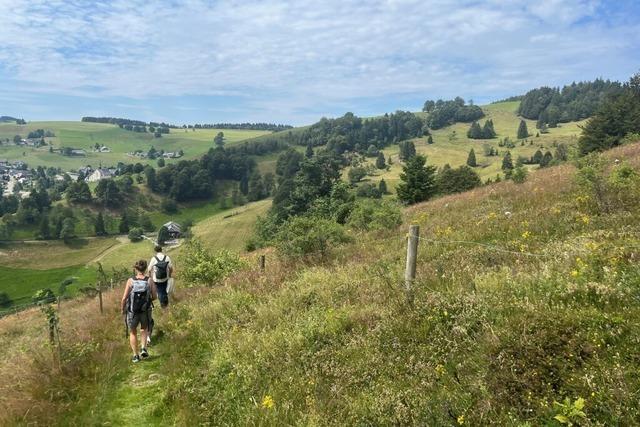
[[(244, 250), (258, 215), (266, 212), (269, 200), (222, 209), (217, 202), (194, 203), (182, 206), (175, 215), (154, 213), (155, 224), (168, 220), (195, 222), (193, 235), (205, 241), (213, 250)], [(225, 216), (229, 216), (225, 218)], [(179, 253), (180, 248), (169, 253)], [(130, 268), (139, 259), (153, 255), (153, 244), (149, 240), (131, 243), (125, 236), (76, 239), (69, 244), (62, 241), (30, 241), (0, 244), (0, 276), (7, 278), (0, 285), (14, 305), (30, 302), (31, 296), (42, 288), (51, 288), (58, 293), (59, 284), (74, 278), (67, 294), (73, 295), (78, 288), (95, 283), (97, 263), (105, 271)]]

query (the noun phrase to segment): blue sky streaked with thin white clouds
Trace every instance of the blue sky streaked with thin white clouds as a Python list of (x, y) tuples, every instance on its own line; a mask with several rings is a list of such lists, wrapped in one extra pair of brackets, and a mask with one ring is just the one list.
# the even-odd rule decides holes
[(309, 124), (640, 71), (636, 0), (0, 0), (0, 115)]

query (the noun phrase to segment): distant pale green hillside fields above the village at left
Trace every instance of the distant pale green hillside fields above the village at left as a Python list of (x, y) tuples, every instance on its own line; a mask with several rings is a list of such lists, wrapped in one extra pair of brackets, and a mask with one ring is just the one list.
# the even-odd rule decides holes
[[(147, 152), (151, 146), (165, 152), (184, 151), (183, 159), (195, 159), (207, 152), (213, 146), (213, 138), (218, 132), (225, 135), (225, 143), (233, 145), (238, 141), (269, 134), (267, 131), (231, 130), (231, 129), (171, 129), (171, 133), (162, 138), (154, 138), (148, 133), (136, 133), (120, 129), (118, 126), (103, 123), (86, 122), (29, 122), (26, 125), (15, 123), (0, 123), (0, 140), (13, 140), (15, 135), (26, 138), (30, 131), (36, 129), (51, 130), (53, 138), (45, 138), (54, 148), (73, 147), (87, 151), (86, 157), (67, 157), (59, 153), (50, 153), (49, 147), (23, 147), (3, 144), (0, 146), (0, 159), (22, 160), (30, 167), (53, 166), (63, 170), (76, 170), (82, 166), (91, 165), (94, 168), (115, 166), (118, 162), (155, 164), (155, 160), (145, 160), (128, 157), (126, 153), (134, 150)], [(94, 153), (94, 145), (102, 144), (109, 147), (111, 153)], [(175, 162), (170, 159), (167, 162)]]

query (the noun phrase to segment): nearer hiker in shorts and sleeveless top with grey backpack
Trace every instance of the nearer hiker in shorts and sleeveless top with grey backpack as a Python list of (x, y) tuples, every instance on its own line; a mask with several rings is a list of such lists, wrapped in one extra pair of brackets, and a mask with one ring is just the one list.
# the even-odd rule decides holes
[[(129, 328), (129, 344), (133, 350), (131, 361), (137, 363), (140, 358), (149, 357), (146, 348), (149, 323), (151, 320), (151, 301), (156, 299), (156, 287), (145, 272), (147, 262), (143, 259), (133, 266), (133, 277), (127, 280), (127, 285), (122, 295), (122, 314), (126, 315), (126, 323)], [(138, 353), (138, 325), (140, 325), (141, 349)]]

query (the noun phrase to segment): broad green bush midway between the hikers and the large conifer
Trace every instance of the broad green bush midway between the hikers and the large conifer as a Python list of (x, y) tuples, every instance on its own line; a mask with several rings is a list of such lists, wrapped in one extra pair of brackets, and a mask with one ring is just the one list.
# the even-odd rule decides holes
[(289, 257), (319, 254), (326, 257), (331, 247), (350, 241), (344, 228), (328, 219), (294, 217), (276, 235), (280, 253)]

